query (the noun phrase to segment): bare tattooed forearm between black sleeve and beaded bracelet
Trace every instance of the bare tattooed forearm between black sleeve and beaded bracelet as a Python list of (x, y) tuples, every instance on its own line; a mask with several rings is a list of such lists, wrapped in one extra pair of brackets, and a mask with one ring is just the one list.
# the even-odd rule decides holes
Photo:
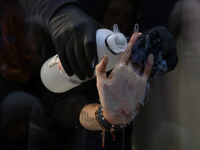
[(99, 106), (100, 104), (88, 104), (81, 110), (79, 121), (84, 128), (93, 131), (102, 130), (95, 119), (95, 112)]

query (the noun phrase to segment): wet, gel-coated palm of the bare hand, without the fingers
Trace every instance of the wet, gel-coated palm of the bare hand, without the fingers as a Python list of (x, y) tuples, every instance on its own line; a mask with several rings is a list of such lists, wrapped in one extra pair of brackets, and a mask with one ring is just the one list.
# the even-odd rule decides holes
[(143, 101), (146, 85), (131, 64), (119, 64), (99, 87), (101, 104), (114, 113), (130, 114)]

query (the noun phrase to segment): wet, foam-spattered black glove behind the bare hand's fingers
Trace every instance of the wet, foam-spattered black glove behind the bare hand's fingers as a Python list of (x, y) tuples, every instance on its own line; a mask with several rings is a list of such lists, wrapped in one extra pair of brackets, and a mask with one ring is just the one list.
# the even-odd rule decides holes
[(173, 70), (178, 63), (176, 43), (163, 27), (155, 27), (142, 34), (132, 49), (132, 62), (146, 66), (149, 54), (154, 55), (151, 75), (161, 75)]

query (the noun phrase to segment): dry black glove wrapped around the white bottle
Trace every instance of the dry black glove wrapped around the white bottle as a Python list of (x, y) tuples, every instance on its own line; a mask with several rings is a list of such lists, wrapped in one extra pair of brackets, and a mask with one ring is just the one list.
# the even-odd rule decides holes
[(81, 80), (92, 77), (98, 63), (96, 30), (103, 26), (76, 5), (54, 14), (49, 29), (65, 72)]

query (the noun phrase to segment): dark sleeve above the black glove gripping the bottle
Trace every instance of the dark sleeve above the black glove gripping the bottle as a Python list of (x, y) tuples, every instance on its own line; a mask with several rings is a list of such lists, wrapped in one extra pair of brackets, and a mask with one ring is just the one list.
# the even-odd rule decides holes
[(81, 6), (78, 0), (18, 0), (18, 3), (28, 16), (34, 17), (46, 27), (54, 12), (61, 6), (69, 3)]

